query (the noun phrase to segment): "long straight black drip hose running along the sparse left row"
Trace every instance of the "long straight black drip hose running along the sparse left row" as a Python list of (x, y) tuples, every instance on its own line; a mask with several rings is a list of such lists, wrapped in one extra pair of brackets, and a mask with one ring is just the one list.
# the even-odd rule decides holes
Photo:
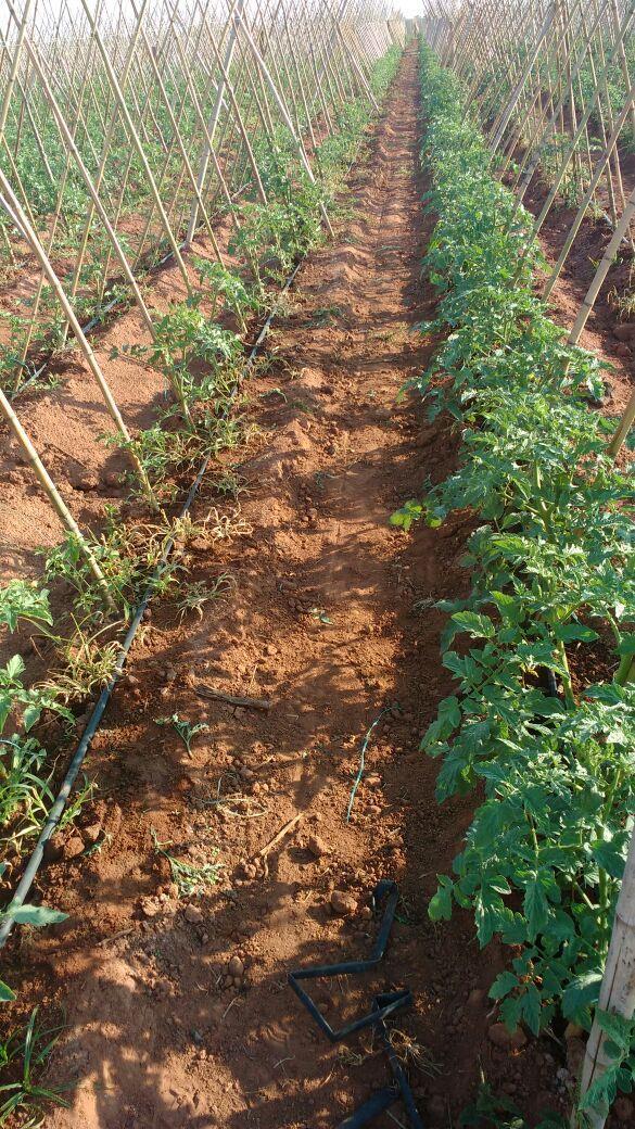
[[(279, 296), (286, 294), (290, 289), (290, 287), (295, 282), (296, 275), (297, 275), (297, 273), (298, 273), (298, 271), (299, 271), (303, 262), (304, 262), (304, 257), (301, 259), (298, 263), (296, 263), (296, 265), (294, 266), (292, 273), (289, 274), (289, 277), (287, 278), (287, 280), (284, 283), (282, 288), (280, 289)], [(225, 409), (224, 409), (224, 411), (221, 413), (223, 417), (227, 417), (228, 415), (228, 413), (229, 413), (229, 411), (230, 411), (230, 409), (232, 409), (232, 406), (233, 406), (233, 404), (235, 402), (236, 395), (238, 394), (238, 391), (240, 391), (240, 388), (241, 388), (241, 386), (243, 384), (243, 380), (245, 379), (246, 374), (249, 373), (251, 366), (253, 365), (253, 361), (255, 360), (255, 357), (258, 356), (258, 353), (259, 353), (259, 351), (260, 351), (260, 349), (262, 347), (262, 343), (263, 343), (267, 334), (269, 333), (269, 329), (271, 326), (271, 322), (273, 321), (275, 316), (276, 316), (276, 308), (273, 307), (273, 309), (271, 310), (271, 313), (267, 317), (267, 321), (264, 322), (264, 324), (263, 324), (260, 333), (258, 334), (258, 338), (255, 339), (254, 344), (252, 345), (251, 352), (250, 352), (250, 355), (247, 357), (247, 360), (246, 360), (246, 364), (245, 364), (244, 371), (238, 377), (238, 379), (234, 384), (234, 387), (232, 388), (232, 392), (229, 393), (229, 396), (227, 399), (227, 403), (226, 403)], [(189, 510), (190, 510), (190, 508), (192, 506), (192, 502), (194, 501), (194, 498), (197, 497), (197, 495), (199, 492), (199, 488), (200, 488), (200, 484), (201, 484), (201, 482), (203, 480), (205, 473), (206, 473), (206, 471), (208, 469), (209, 462), (210, 462), (210, 456), (207, 455), (203, 458), (203, 461), (202, 461), (202, 463), (201, 463), (201, 465), (199, 467), (199, 472), (198, 472), (194, 481), (192, 482), (192, 485), (190, 487), (190, 490), (188, 492), (188, 497), (185, 498), (185, 501), (184, 501), (183, 507), (181, 509), (181, 513), (179, 515), (180, 519), (182, 519), (183, 517), (185, 517), (185, 515), (189, 513)], [(25, 902), (25, 900), (26, 900), (26, 898), (28, 895), (28, 892), (29, 892), (29, 890), (31, 890), (31, 887), (33, 885), (33, 882), (35, 879), (35, 875), (37, 874), (37, 872), (38, 872), (38, 869), (40, 869), (40, 867), (42, 865), (42, 860), (44, 858), (44, 851), (46, 849), (46, 844), (47, 844), (49, 840), (51, 839), (52, 834), (55, 831), (55, 828), (58, 826), (58, 824), (60, 822), (60, 819), (61, 819), (62, 813), (64, 811), (64, 807), (67, 805), (68, 798), (70, 796), (72, 786), (73, 786), (75, 781), (77, 780), (79, 770), (80, 770), (80, 768), (81, 768), (81, 765), (84, 763), (84, 758), (86, 756), (86, 753), (88, 752), (88, 749), (90, 746), (90, 742), (93, 741), (93, 737), (95, 736), (95, 734), (96, 734), (96, 732), (97, 732), (97, 729), (99, 727), (99, 723), (102, 720), (102, 717), (104, 716), (104, 711), (106, 709), (106, 706), (108, 704), (108, 701), (111, 699), (112, 692), (113, 692), (113, 690), (114, 690), (114, 688), (115, 688), (119, 679), (121, 677), (121, 675), (123, 673), (123, 668), (125, 666), (125, 660), (128, 658), (128, 653), (129, 653), (129, 650), (130, 650), (130, 648), (132, 646), (132, 642), (134, 640), (134, 636), (137, 634), (137, 631), (139, 629), (139, 624), (141, 623), (141, 620), (143, 619), (143, 614), (145, 614), (146, 609), (147, 609), (148, 604), (150, 603), (150, 599), (151, 599), (151, 597), (153, 597), (153, 595), (154, 595), (154, 593), (156, 590), (158, 581), (160, 580), (160, 577), (163, 576), (163, 572), (165, 571), (165, 569), (167, 567), (167, 561), (169, 559), (169, 554), (172, 553), (172, 550), (174, 548), (174, 540), (175, 540), (174, 536), (171, 536), (168, 539), (168, 541), (166, 542), (166, 544), (165, 544), (165, 548), (164, 548), (163, 553), (162, 553), (162, 559), (160, 559), (159, 563), (157, 564), (155, 574), (154, 574), (153, 578), (150, 579), (150, 583), (148, 584), (148, 587), (146, 588), (146, 592), (143, 593), (143, 596), (141, 598), (141, 603), (138, 605), (138, 607), (137, 607), (137, 610), (134, 612), (134, 615), (132, 618), (132, 622), (130, 623), (130, 627), (129, 627), (129, 629), (127, 631), (125, 638), (124, 638), (124, 640), (123, 640), (123, 642), (121, 645), (121, 650), (120, 650), (120, 653), (118, 655), (118, 659), (116, 659), (116, 663), (115, 663), (114, 671), (112, 673), (111, 680), (107, 683), (107, 685), (104, 686), (104, 689), (102, 690), (102, 693), (99, 694), (99, 697), (98, 697), (98, 699), (97, 699), (97, 701), (96, 701), (96, 703), (95, 703), (95, 706), (93, 708), (93, 712), (90, 714), (90, 717), (88, 718), (88, 723), (86, 725), (86, 728), (84, 729), (84, 733), (81, 734), (81, 737), (79, 739), (79, 744), (78, 744), (77, 750), (76, 750), (76, 752), (75, 752), (75, 754), (72, 756), (72, 760), (71, 760), (71, 762), (70, 762), (70, 764), (68, 767), (68, 770), (67, 770), (66, 777), (64, 777), (64, 779), (62, 781), (61, 788), (60, 788), (60, 790), (59, 790), (59, 793), (58, 793), (58, 795), (55, 797), (55, 800), (54, 800), (54, 803), (53, 803), (53, 805), (52, 805), (52, 807), (51, 807), (51, 809), (49, 812), (49, 815), (46, 817), (46, 823), (44, 824), (44, 826), (43, 826), (43, 829), (42, 829), (42, 831), (40, 833), (40, 838), (37, 840), (37, 843), (35, 844), (33, 854), (32, 854), (32, 856), (31, 856), (31, 858), (29, 858), (29, 860), (28, 860), (28, 863), (27, 863), (27, 865), (26, 865), (26, 867), (24, 869), (24, 874), (23, 874), (23, 876), (21, 876), (21, 878), (20, 878), (20, 881), (19, 881), (19, 883), (18, 883), (18, 885), (16, 887), (14, 896), (12, 896), (10, 903), (9, 903), (9, 909), (8, 909), (7, 916), (3, 917), (2, 922), (0, 924), (0, 948), (3, 948), (3, 946), (6, 945), (6, 943), (7, 943), (8, 938), (9, 938), (9, 934), (11, 933), (11, 929), (14, 928), (14, 925), (15, 925), (14, 913), (21, 905), (24, 905), (24, 902)]]

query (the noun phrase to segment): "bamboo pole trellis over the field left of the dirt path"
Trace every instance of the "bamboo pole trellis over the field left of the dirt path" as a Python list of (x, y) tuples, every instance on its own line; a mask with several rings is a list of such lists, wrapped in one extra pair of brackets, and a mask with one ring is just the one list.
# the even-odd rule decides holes
[(356, 99), (376, 106), (373, 69), (405, 26), (376, 0), (2, 6), (0, 411), (79, 535), (16, 395), (70, 335), (130, 444), (89, 331), (131, 301), (155, 338), (147, 281), (157, 264), (172, 259), (191, 294), (198, 236), (225, 264), (244, 204), (268, 207), (280, 172), (315, 184), (321, 143)]

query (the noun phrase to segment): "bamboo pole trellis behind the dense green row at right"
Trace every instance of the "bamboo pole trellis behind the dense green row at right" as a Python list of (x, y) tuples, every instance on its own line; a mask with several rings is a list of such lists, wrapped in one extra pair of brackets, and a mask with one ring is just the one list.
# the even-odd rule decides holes
[[(617, 248), (623, 240), (633, 248), (635, 200), (620, 157), (621, 146), (635, 142), (633, 0), (489, 0), (479, 6), (426, 0), (425, 7), (426, 37), (466, 84), (466, 114), (476, 115), (489, 140), (493, 170), (506, 176), (519, 204), (539, 168), (550, 184), (533, 235), (558, 196), (579, 207), (545, 297), (590, 208), (617, 233)], [(572, 343), (610, 262), (598, 266)]]

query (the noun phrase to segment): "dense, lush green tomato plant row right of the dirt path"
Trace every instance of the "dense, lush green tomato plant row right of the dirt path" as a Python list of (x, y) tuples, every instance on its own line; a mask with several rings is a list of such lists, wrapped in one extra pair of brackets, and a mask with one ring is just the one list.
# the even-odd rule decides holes
[[(469, 909), (481, 946), (512, 946), (490, 989), (511, 1030), (589, 1029), (635, 811), (633, 487), (589, 406), (600, 366), (536, 297), (529, 217), (514, 218), (460, 84), (425, 45), (421, 97), (437, 218), (424, 266), (440, 294), (421, 330), (444, 340), (415, 383), (461, 446), (456, 470), (393, 520), (436, 526), (468, 508), (482, 523), (469, 596), (441, 604), (458, 690), (423, 741), (441, 760), (438, 800), (476, 790), (479, 803), (429, 914)], [(632, 1088), (627, 1034), (588, 1104)]]

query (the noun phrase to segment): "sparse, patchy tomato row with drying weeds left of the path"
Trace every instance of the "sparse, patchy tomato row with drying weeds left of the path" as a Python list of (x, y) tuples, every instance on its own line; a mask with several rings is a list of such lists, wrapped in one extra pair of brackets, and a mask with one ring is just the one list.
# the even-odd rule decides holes
[[(395, 44), (374, 67), (371, 87), (379, 102), (388, 94), (400, 58), (401, 49)], [(0, 666), (2, 889), (15, 883), (24, 856), (46, 822), (59, 777), (58, 745), (75, 741), (73, 711), (84, 710), (110, 681), (120, 654), (121, 628), (129, 623), (148, 584), (153, 583), (156, 597), (173, 597), (181, 618), (186, 613), (200, 615), (205, 604), (223, 590), (218, 578), (209, 585), (188, 579), (186, 542), (207, 531), (189, 517), (179, 516), (183, 492), (207, 457), (208, 476), (218, 495), (228, 501), (237, 500), (240, 479), (217, 464), (216, 457), (250, 435), (242, 413), (229, 409), (238, 384), (249, 373), (253, 333), (276, 308), (280, 288), (294, 265), (323, 238), (320, 203), (331, 215), (339, 213), (343, 201), (338, 196), (373, 116), (372, 102), (362, 96), (337, 113), (331, 133), (314, 155), (318, 184), (308, 182), (289, 138), (280, 131), (267, 163), (260, 164), (269, 196), (267, 208), (253, 199), (240, 208), (241, 226), (229, 248), (233, 269), (192, 257), (199, 285), (192, 287), (189, 298), (171, 303), (163, 315), (156, 312), (153, 345), (137, 343), (113, 350), (113, 356), (121, 352), (142, 368), (158, 370), (166, 384), (166, 396), (149, 428), (138, 430), (130, 444), (119, 436), (103, 437), (107, 444), (129, 448), (134, 456), (121, 485), (127, 489), (129, 504), (141, 501), (136, 519), (124, 520), (123, 510), (107, 506), (102, 528), (85, 532), (115, 607), (114, 621), (111, 610), (104, 606), (103, 590), (95, 583), (81, 544), (72, 534), (53, 548), (42, 549), (42, 581), (20, 577), (0, 585), (0, 633), (12, 636), (28, 625), (32, 640), (24, 636), (20, 639), (25, 654), (29, 654), (33, 641), (40, 640), (47, 665), (46, 680), (35, 684), (17, 649)], [(147, 505), (148, 492), (151, 507)], [(172, 540), (174, 550), (164, 562), (166, 542)], [(56, 599), (50, 598), (43, 583), (54, 586)], [(60, 597), (62, 606), (54, 618), (52, 607), (60, 604)], [(93, 793), (94, 786), (86, 784), (73, 796), (60, 829), (78, 817)], [(45, 926), (66, 917), (42, 905), (12, 910), (10, 904), (1, 904), (0, 898), (0, 924), (8, 916), (31, 926)], [(12, 990), (0, 980), (0, 1004), (12, 999)], [(0, 1067), (5, 1051), (0, 1040)], [(0, 1087), (0, 1124), (5, 1123), (6, 1112)]]

